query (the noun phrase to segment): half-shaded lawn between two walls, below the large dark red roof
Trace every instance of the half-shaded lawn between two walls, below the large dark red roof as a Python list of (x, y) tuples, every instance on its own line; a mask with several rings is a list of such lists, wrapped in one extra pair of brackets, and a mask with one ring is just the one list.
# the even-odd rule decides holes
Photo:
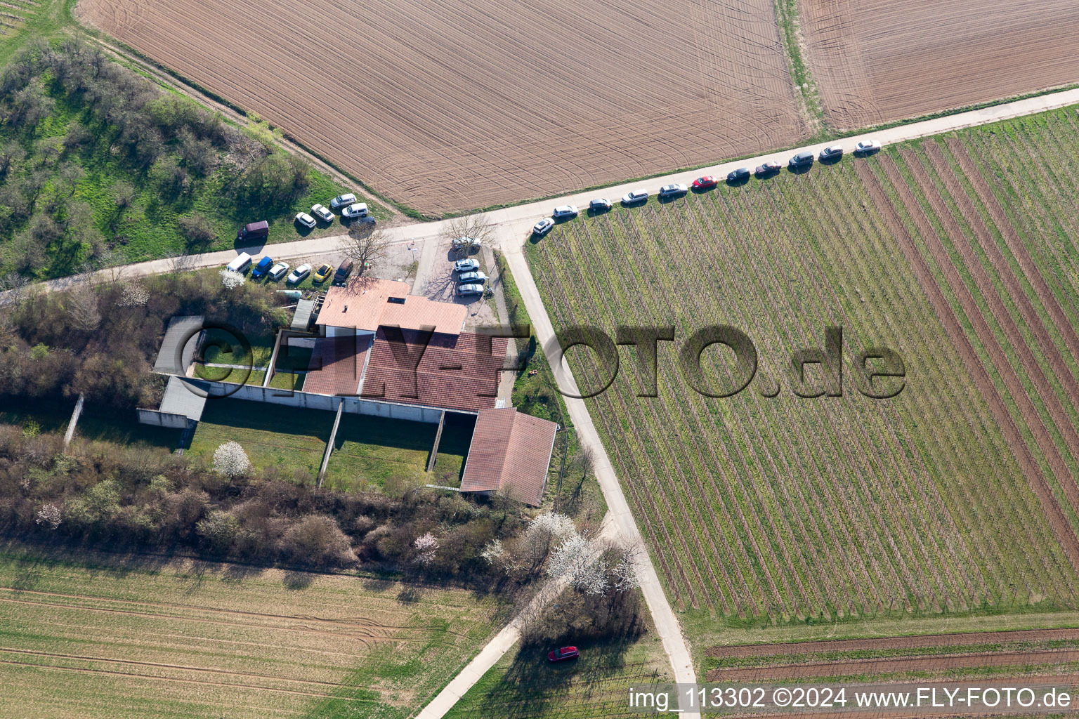
[(323, 485), (381, 492), (425, 482), (437, 425), (343, 414)]

